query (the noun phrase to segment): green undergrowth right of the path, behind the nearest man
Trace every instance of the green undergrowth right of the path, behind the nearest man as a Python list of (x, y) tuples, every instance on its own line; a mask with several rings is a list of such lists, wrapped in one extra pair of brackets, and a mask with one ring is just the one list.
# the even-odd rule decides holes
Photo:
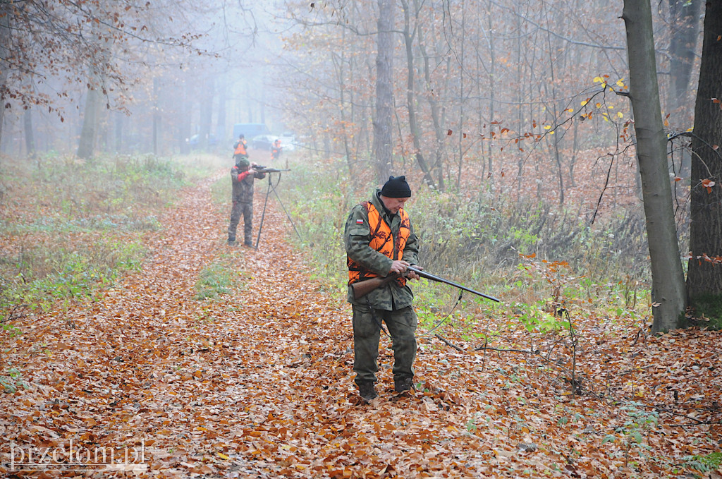
[[(296, 241), (318, 279), (343, 297), (347, 271), (343, 232), (350, 208), (372, 185), (354, 185), (345, 164), (292, 165), (279, 194), (303, 236)], [(323, 173), (321, 173), (323, 172)], [(544, 329), (554, 308), (601, 309), (608, 316), (642, 316), (649, 307), (648, 259), (642, 211), (620, 210), (588, 225), (577, 210), (539, 202), (510, 202), (413, 186), (406, 205), (419, 236), (419, 259), (432, 274), (496, 296), (505, 306), (464, 293), (451, 316), (464, 311), (521, 311)], [(291, 233), (292, 234), (292, 233)], [(435, 324), (456, 303), (447, 285), (414, 282), (422, 322)]]

